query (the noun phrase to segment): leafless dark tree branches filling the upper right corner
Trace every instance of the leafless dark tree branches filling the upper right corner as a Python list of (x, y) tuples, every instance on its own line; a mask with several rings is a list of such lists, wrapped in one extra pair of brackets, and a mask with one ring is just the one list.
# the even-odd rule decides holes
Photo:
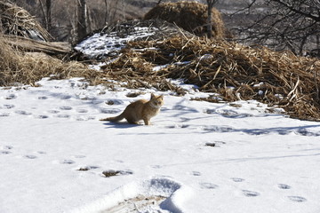
[(297, 55), (314, 49), (320, 53), (318, 0), (253, 0), (244, 11), (256, 17), (240, 28), (244, 42), (268, 45), (278, 51), (287, 49)]

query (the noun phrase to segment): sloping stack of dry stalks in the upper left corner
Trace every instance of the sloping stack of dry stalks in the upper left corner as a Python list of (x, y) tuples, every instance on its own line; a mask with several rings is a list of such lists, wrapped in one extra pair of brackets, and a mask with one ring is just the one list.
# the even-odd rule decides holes
[(8, 0), (0, 0), (0, 33), (46, 42), (52, 40), (30, 13)]

